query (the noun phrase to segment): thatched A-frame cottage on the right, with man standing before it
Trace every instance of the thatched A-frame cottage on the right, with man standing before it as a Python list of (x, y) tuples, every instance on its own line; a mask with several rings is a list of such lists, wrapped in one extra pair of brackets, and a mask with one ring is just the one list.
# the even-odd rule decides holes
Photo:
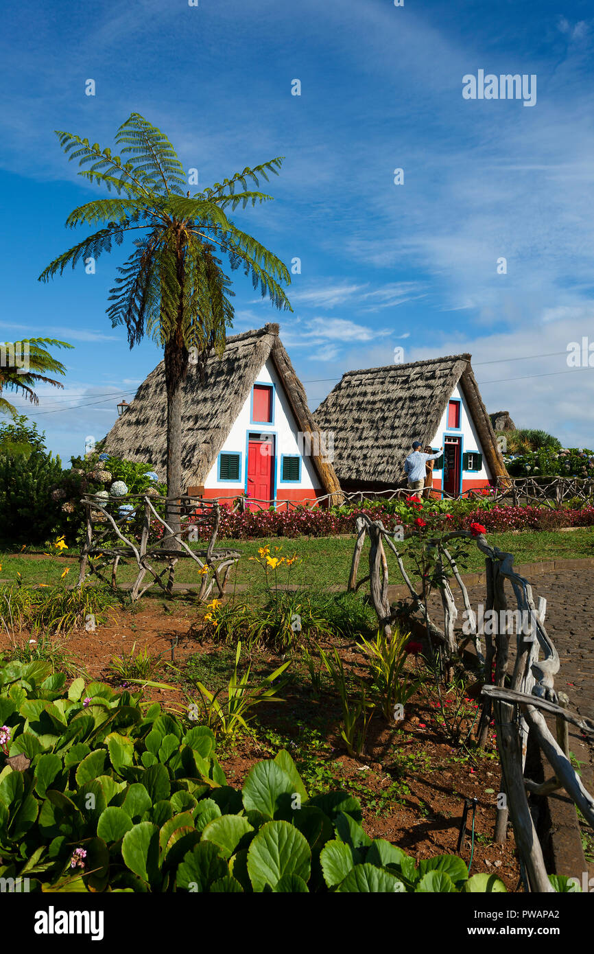
[(400, 486), (413, 441), (444, 448), (434, 489), (459, 493), (506, 475), (468, 354), (348, 371), (314, 419), (334, 431), (343, 490)]

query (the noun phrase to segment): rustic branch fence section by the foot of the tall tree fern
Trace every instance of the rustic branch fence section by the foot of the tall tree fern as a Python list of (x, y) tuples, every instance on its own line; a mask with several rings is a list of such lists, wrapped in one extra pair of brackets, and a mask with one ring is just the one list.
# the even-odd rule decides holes
[[(171, 502), (181, 521), (177, 532), (164, 517)], [(133, 562), (137, 568), (131, 591), (133, 600), (139, 599), (154, 583), (171, 593), (175, 566), (180, 559), (187, 558), (195, 562), (200, 576), (198, 599), (207, 599), (215, 585), (219, 595), (224, 595), (231, 568), (241, 553), (215, 548), (220, 523), (220, 507), (216, 501), (190, 496), (178, 499), (129, 494), (109, 501), (88, 495), (81, 503), (87, 526), (80, 551), (79, 586), (92, 573), (106, 582), (103, 571), (111, 567), (111, 585), (115, 590), (120, 562)], [(188, 543), (197, 541), (198, 529), (205, 527), (210, 533), (208, 544), (203, 549), (192, 550)], [(113, 542), (114, 536), (117, 543)], [(155, 569), (159, 566), (163, 569)], [(147, 574), (153, 578), (143, 586)], [(166, 574), (167, 583), (164, 583)]]

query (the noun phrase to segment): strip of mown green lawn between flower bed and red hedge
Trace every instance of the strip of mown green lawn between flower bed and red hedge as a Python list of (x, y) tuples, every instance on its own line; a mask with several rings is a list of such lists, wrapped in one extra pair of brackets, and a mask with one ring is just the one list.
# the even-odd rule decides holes
[[(515, 555), (515, 564), (533, 563), (536, 561), (561, 560), (575, 557), (594, 556), (594, 529), (576, 529), (570, 532), (539, 531), (522, 533), (490, 533), (489, 543), (501, 550), (507, 550)], [(247, 586), (255, 593), (264, 589), (264, 573), (250, 557), (257, 556), (260, 547), (269, 546), (271, 555), (292, 557), (297, 555), (300, 561), (295, 564), (291, 572), (290, 582), (305, 586), (314, 591), (326, 590), (329, 587), (344, 586), (347, 582), (351, 559), (353, 556), (355, 537), (301, 537), (293, 539), (261, 539), (261, 540), (220, 540), (219, 546), (231, 547), (240, 550), (242, 559), (230, 579), (229, 591), (234, 585)], [(400, 545), (402, 546), (402, 545)], [(408, 546), (408, 544), (406, 544)], [(278, 550), (277, 550), (278, 548)], [(367, 543), (361, 554), (359, 575), (364, 575), (367, 565)], [(402, 582), (398, 566), (391, 550), (387, 550), (390, 583)], [(74, 558), (74, 559), (72, 559)], [(58, 583), (64, 570), (70, 567), (65, 576), (65, 582), (75, 583), (78, 577), (77, 554), (72, 550), (64, 550), (63, 555), (47, 558), (30, 559), (27, 555), (11, 556), (10, 551), (0, 553), (0, 579), (8, 582), (16, 580), (16, 574), (21, 573), (24, 584)], [(412, 563), (409, 557), (404, 560), (407, 569)], [(468, 557), (463, 570), (469, 572), (482, 570), (484, 559), (480, 550), (473, 544), (468, 546)], [(461, 566), (462, 570), (462, 566)], [(135, 575), (135, 566), (128, 564), (118, 569), (118, 580), (132, 581)], [(274, 580), (274, 573), (269, 571), (269, 579)], [(194, 562), (186, 559), (176, 569), (175, 580), (178, 583), (196, 583), (199, 577)], [(279, 584), (287, 582), (287, 570), (282, 566), (277, 573)]]

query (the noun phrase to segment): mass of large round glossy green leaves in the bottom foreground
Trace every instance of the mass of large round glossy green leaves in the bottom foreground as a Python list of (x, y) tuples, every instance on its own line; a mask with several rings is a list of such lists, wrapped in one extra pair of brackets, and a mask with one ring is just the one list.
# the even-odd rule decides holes
[[(31, 892), (502, 892), (460, 858), (372, 840), (357, 798), (310, 796), (285, 750), (228, 784), (207, 726), (141, 692), (0, 664), (0, 878)], [(551, 878), (556, 890), (567, 890)]]

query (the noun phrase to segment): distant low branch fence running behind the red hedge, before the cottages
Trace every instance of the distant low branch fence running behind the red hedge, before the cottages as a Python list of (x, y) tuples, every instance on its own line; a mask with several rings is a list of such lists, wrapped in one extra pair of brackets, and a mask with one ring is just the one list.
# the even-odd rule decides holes
[(578, 499), (584, 503), (594, 500), (594, 478), (583, 477), (496, 477), (492, 481), (484, 482), (483, 487), (471, 487), (458, 494), (448, 493), (428, 487), (424, 491), (410, 490), (408, 487), (390, 487), (385, 490), (356, 490), (347, 492), (336, 490), (325, 493), (316, 500), (264, 500), (245, 495), (217, 496), (215, 499), (225, 506), (230, 506), (233, 512), (243, 512), (249, 508), (267, 510), (271, 507), (291, 510), (305, 506), (311, 508), (332, 507), (335, 504), (363, 504), (365, 501), (405, 500), (411, 493), (430, 492), (436, 499), (444, 500), (482, 500), (488, 495), (495, 503), (508, 502), (514, 507), (521, 503), (530, 503), (536, 507), (557, 508), (568, 500)]

